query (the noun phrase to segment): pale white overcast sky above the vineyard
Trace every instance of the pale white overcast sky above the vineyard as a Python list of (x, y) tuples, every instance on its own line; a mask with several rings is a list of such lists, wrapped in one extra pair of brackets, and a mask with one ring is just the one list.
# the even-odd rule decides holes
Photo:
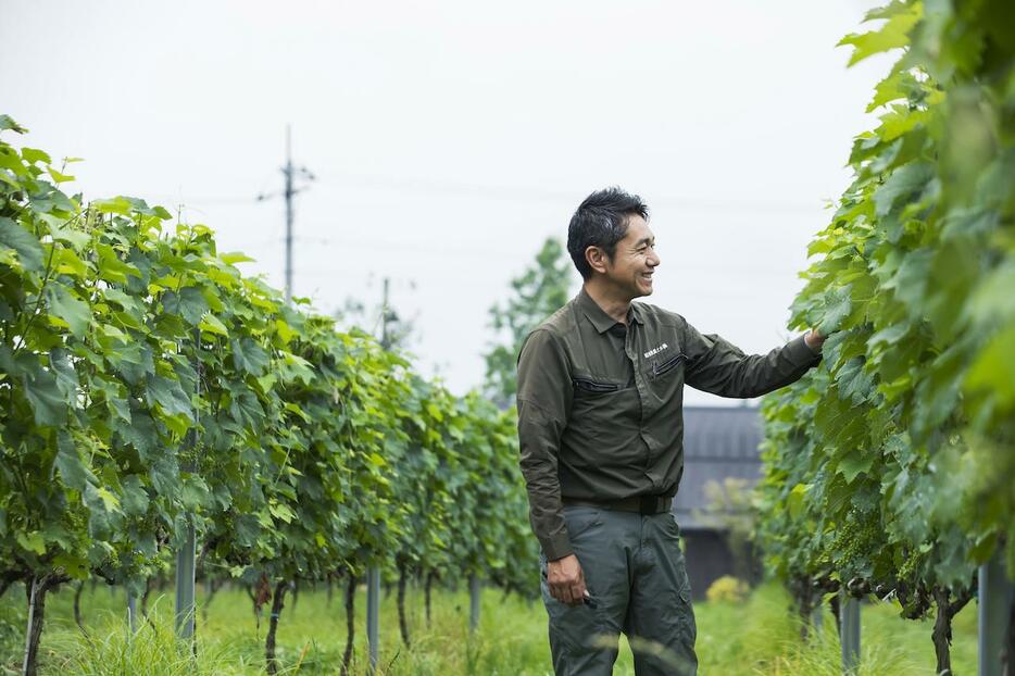
[(888, 68), (835, 47), (873, 5), (0, 0), (0, 112), (86, 158), (86, 198), (181, 206), (278, 288), (283, 201), (255, 198), (281, 188), (291, 123), (316, 176), (296, 295), (330, 313), (390, 277), (421, 370), (462, 393), (489, 306), (607, 185), (652, 210), (651, 302), (750, 352), (786, 340)]

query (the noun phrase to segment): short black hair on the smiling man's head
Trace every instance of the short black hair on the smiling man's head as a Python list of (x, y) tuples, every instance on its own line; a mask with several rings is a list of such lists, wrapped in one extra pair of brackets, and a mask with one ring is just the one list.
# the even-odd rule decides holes
[(582, 279), (592, 276), (585, 250), (601, 247), (612, 261), (617, 242), (627, 235), (627, 224), (631, 216), (641, 216), (648, 221), (649, 208), (640, 197), (616, 186), (597, 190), (578, 205), (567, 226), (567, 252)]

